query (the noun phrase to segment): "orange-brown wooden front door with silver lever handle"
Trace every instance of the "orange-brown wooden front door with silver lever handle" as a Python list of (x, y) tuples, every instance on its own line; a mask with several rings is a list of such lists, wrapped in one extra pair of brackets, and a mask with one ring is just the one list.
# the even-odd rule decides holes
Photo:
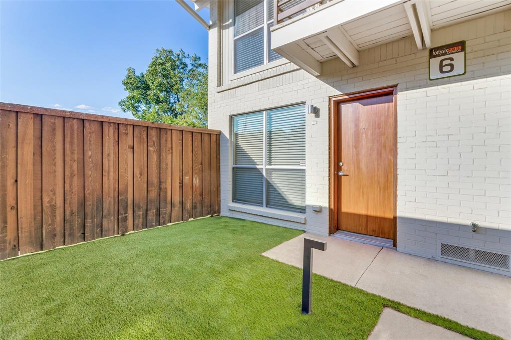
[(394, 239), (397, 133), (391, 90), (348, 95), (335, 103), (339, 230)]

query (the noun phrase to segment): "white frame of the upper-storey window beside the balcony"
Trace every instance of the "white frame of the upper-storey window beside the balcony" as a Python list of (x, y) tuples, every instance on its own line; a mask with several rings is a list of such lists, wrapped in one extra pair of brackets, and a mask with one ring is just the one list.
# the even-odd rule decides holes
[[(261, 25), (259, 25), (258, 27), (253, 28), (247, 32), (243, 32), (242, 34), (240, 34), (237, 37), (234, 36), (234, 25), (235, 25), (234, 21), (236, 19), (235, 11), (234, 11), (235, 4), (234, 4), (234, 1), (229, 2), (229, 4), (230, 4), (229, 17), (231, 18), (231, 20), (233, 22), (233, 24), (230, 27), (231, 32), (229, 33), (229, 45), (230, 45), (230, 48), (228, 51), (228, 53), (229, 53), (229, 68), (230, 68), (229, 81), (247, 77), (247, 76), (253, 75), (255, 73), (264, 71), (266, 69), (289, 63), (289, 61), (284, 57), (274, 60), (274, 61), (271, 61), (271, 62), (269, 61), (268, 35), (271, 34), (271, 32), (268, 29), (268, 24), (275, 20), (275, 18), (273, 18), (272, 20), (268, 21), (268, 6), (267, 6), (268, 4), (267, 3), (269, 1), (273, 1), (273, 0), (264, 0), (264, 3), (263, 3), (263, 5), (264, 5), (264, 22)], [(241, 72), (235, 73), (235, 67), (234, 67), (234, 52), (235, 52), (234, 51), (234, 46), (235, 46), (234, 42), (235, 42), (235, 40), (239, 39), (240, 37), (245, 36), (246, 34), (253, 32), (255, 30), (259, 30), (261, 28), (261, 26), (263, 26), (263, 30), (264, 30), (264, 63), (262, 65), (255, 66), (255, 67), (243, 70)]]

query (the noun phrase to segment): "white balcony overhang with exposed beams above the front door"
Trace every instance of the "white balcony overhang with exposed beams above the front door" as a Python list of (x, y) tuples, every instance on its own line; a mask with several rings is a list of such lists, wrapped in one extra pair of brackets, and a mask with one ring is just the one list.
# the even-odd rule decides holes
[(272, 27), (271, 49), (319, 76), (330, 59), (356, 67), (360, 51), (409, 36), (423, 50), (434, 29), (509, 8), (511, 0), (324, 1)]

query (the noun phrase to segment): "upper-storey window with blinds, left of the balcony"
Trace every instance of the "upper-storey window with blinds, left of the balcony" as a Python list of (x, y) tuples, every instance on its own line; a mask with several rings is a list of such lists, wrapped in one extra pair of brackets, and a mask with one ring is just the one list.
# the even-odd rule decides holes
[(234, 73), (268, 64), (282, 57), (270, 49), (273, 0), (234, 2)]

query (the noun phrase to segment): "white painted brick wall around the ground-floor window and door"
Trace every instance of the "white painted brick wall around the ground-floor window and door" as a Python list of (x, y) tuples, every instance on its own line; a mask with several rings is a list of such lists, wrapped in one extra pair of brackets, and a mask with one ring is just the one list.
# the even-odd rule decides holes
[[(429, 81), (428, 52), (409, 37), (361, 51), (355, 68), (323, 63), (318, 78), (285, 64), (227, 84), (217, 74), (215, 1), (210, 13), (209, 127), (222, 131), (223, 215), (328, 234), (328, 98), (398, 84), (398, 250), (436, 257), (446, 239), (511, 253), (511, 11), (432, 32), (433, 45), (467, 41), (464, 76)], [(228, 210), (230, 115), (298, 102), (320, 110), (307, 115), (306, 224)], [(478, 233), (467, 229), (472, 221)]]

